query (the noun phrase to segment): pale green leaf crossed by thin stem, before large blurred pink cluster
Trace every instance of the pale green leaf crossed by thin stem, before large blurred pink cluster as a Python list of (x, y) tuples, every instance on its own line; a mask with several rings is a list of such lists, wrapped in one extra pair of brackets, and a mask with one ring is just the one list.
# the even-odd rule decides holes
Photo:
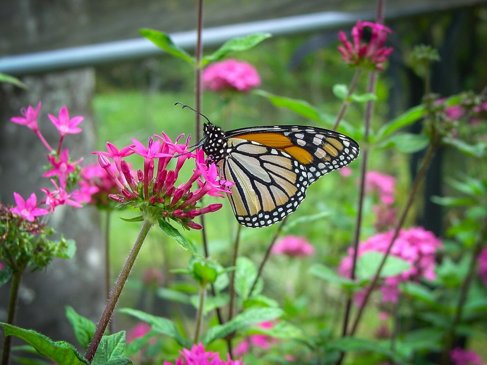
[[(357, 278), (360, 280), (372, 278), (377, 272), (382, 258), (384, 258), (384, 253), (377, 251), (368, 251), (361, 255), (357, 260)], [(396, 276), (410, 268), (411, 265), (407, 261), (389, 255), (380, 271), (380, 277)]]

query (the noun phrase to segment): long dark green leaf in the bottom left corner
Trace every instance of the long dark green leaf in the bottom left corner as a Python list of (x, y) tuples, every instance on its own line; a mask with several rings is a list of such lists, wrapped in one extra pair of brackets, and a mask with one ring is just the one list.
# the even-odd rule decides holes
[(16, 336), (28, 344), (41, 355), (62, 365), (89, 365), (83, 355), (76, 348), (65, 341), (52, 341), (49, 337), (33, 330), (24, 330), (8, 323), (0, 322), (4, 326), (6, 336)]

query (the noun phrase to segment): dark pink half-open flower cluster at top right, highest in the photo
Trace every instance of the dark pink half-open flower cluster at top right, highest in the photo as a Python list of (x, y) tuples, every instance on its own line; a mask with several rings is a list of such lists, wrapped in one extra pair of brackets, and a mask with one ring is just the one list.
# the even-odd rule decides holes
[[(363, 40), (365, 26), (372, 30), (368, 43)], [(384, 69), (384, 62), (393, 51), (390, 47), (383, 47), (387, 40), (387, 33), (392, 33), (387, 26), (359, 20), (352, 28), (353, 44), (347, 39), (344, 32), (338, 32), (338, 39), (341, 42), (338, 51), (341, 53), (343, 61), (351, 66), (360, 65), (380, 71)]]

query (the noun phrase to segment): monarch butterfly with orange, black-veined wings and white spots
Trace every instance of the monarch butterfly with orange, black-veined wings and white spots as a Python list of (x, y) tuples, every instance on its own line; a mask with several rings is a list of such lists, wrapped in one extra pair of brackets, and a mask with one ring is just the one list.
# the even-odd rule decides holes
[(359, 146), (341, 133), (307, 126), (258, 126), (224, 132), (203, 127), (208, 163), (233, 181), (228, 194), (238, 223), (257, 228), (280, 222), (296, 210), (307, 187), (348, 165)]

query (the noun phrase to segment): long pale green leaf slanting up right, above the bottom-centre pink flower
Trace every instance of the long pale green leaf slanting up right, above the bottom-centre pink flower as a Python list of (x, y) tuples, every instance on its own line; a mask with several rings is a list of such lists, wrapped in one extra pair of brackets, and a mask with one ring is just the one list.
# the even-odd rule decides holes
[(234, 331), (242, 329), (245, 326), (279, 318), (283, 314), (284, 311), (279, 308), (252, 307), (238, 314), (225, 324), (210, 327), (206, 334), (201, 337), (201, 342), (203, 345), (207, 345), (210, 342), (223, 338)]

